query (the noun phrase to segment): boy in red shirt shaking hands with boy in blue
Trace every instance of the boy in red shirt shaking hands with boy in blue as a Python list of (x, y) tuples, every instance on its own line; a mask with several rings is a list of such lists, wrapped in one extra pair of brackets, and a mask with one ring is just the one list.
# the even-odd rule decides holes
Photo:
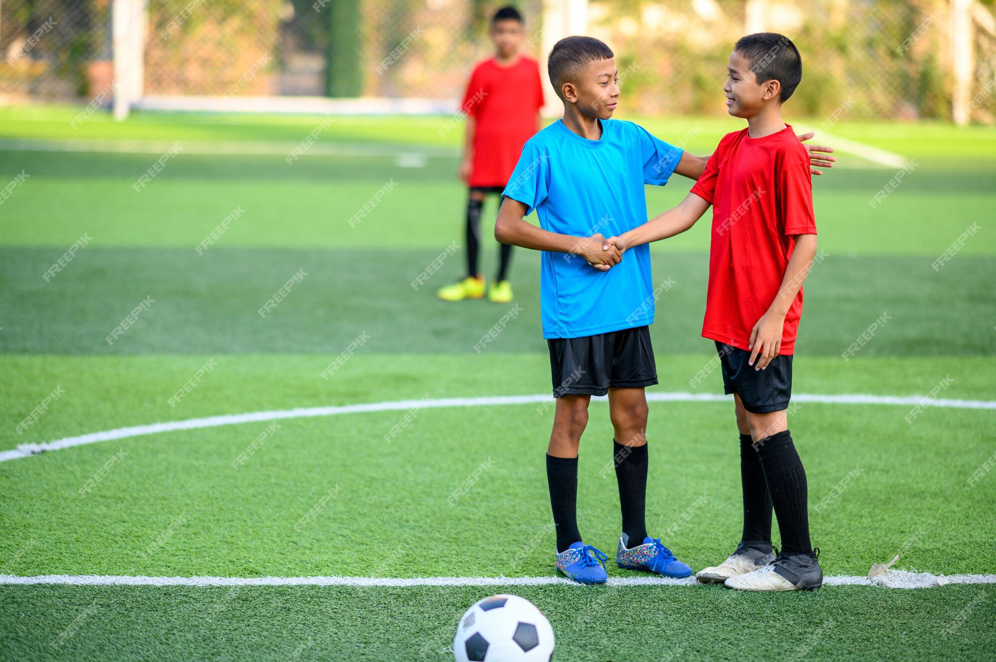
[[(742, 590), (819, 588), (806, 471), (785, 413), (802, 284), (816, 256), (809, 156), (781, 112), (802, 80), (802, 60), (787, 37), (759, 33), (737, 42), (728, 72), (727, 111), (747, 128), (723, 137), (681, 204), (605, 248), (624, 251), (684, 232), (712, 205), (702, 335), (716, 342), (724, 390), (735, 402), (744, 527), (736, 550), (696, 576)], [(772, 506), (782, 535), (778, 556)]]

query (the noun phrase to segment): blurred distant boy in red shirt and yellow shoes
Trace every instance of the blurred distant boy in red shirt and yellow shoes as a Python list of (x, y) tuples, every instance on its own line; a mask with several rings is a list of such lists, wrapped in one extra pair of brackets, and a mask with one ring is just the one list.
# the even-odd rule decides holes
[[(467, 113), (467, 133), (460, 163), (460, 179), (467, 195), (467, 275), (437, 293), (443, 301), (480, 299), (484, 276), (477, 273), (481, 242), (480, 216), (488, 193), (501, 194), (508, 184), (522, 145), (540, 128), (543, 83), (539, 64), (519, 53), (525, 35), (522, 15), (514, 7), (499, 9), (491, 19), (495, 56), (474, 68), (461, 108)], [(500, 246), (498, 275), (487, 289), (488, 299), (512, 301), (506, 275), (512, 246)]]

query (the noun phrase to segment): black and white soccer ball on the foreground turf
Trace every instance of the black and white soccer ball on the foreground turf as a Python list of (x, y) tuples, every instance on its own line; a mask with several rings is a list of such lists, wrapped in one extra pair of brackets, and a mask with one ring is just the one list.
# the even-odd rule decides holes
[(550, 662), (554, 628), (526, 598), (492, 595), (464, 612), (453, 654), (457, 662)]

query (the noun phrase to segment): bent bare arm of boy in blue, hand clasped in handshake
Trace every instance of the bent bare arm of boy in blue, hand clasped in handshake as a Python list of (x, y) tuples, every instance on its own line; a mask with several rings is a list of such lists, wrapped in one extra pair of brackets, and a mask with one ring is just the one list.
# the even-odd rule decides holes
[(512, 244), (535, 251), (572, 253), (585, 258), (593, 267), (602, 271), (619, 264), (622, 253), (615, 247), (603, 250), (604, 238), (601, 234), (592, 237), (562, 235), (538, 228), (523, 220), (529, 208), (508, 196), (502, 198), (498, 220), (495, 221), (495, 239), (503, 244)]

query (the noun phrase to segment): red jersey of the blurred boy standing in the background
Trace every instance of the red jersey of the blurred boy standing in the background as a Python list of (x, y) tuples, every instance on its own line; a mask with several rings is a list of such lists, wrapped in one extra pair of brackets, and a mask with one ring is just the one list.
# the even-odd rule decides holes
[(543, 108), (539, 65), (526, 56), (508, 67), (485, 60), (470, 75), (461, 108), (477, 120), (470, 185), (504, 187), (522, 145), (536, 133)]

